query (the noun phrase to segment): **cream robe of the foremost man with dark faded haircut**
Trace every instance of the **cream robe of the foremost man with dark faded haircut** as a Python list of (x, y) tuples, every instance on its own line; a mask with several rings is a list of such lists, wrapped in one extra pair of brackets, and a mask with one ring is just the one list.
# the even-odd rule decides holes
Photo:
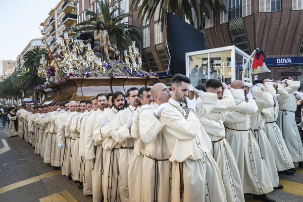
[[(198, 106), (201, 108), (197, 114), (212, 111), (216, 100), (217, 94), (205, 96), (206, 102)], [(183, 108), (172, 98), (168, 103), (172, 108), (162, 111), (160, 121), (164, 124), (162, 131), (171, 156), (169, 161), (173, 163), (172, 201), (226, 201), (221, 173), (210, 155), (212, 142), (196, 114), (188, 113), (184, 103)]]

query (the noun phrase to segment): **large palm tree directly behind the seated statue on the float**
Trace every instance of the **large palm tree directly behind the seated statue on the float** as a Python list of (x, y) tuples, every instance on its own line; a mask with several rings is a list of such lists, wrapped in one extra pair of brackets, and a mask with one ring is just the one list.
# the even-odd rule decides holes
[(118, 8), (113, 8), (110, 12), (110, 4), (107, 2), (98, 2), (100, 8), (100, 14), (96, 14), (93, 11), (86, 10), (86, 16), (89, 16), (89, 20), (83, 21), (78, 25), (81, 27), (78, 29), (77, 35), (83, 32), (93, 33), (96, 30), (96, 24), (98, 20), (102, 20), (105, 24), (105, 29), (108, 31), (110, 36), (110, 41), (112, 44), (117, 44), (118, 50), (123, 53), (124, 49), (131, 44), (132, 40), (140, 42), (140, 32), (135, 26), (130, 25), (128, 22), (123, 22), (126, 17), (131, 17), (129, 13), (121, 14), (119, 16), (114, 16), (114, 13), (119, 10)]

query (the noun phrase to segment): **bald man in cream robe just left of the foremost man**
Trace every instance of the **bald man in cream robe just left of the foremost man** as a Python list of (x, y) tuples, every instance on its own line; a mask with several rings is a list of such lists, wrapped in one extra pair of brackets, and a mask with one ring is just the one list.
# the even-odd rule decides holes
[[(129, 185), (130, 196), (140, 196), (142, 194), (142, 199), (135, 197), (134, 201), (171, 201), (170, 178), (172, 176), (170, 172), (171, 163), (169, 162), (170, 153), (162, 133), (164, 125), (154, 115), (154, 113), (159, 113), (158, 115), (160, 115), (161, 109), (157, 109), (160, 105), (168, 102), (170, 90), (163, 83), (157, 83), (151, 88), (150, 95), (154, 102), (150, 105), (143, 105), (136, 111), (138, 121), (135, 116), (131, 127), (132, 134), (134, 130), (138, 130), (134, 134), (139, 132), (139, 137), (142, 140), (140, 148), (141, 156), (138, 156), (137, 159), (142, 164), (141, 167), (138, 165), (142, 176), (139, 175), (134, 178), (135, 180), (139, 180), (135, 184), (135, 188), (139, 189), (136, 193), (131, 192), (132, 187)], [(134, 151), (136, 150), (134, 149)], [(143, 158), (143, 156), (145, 157)], [(133, 173), (132, 170), (129, 169), (129, 173)]]

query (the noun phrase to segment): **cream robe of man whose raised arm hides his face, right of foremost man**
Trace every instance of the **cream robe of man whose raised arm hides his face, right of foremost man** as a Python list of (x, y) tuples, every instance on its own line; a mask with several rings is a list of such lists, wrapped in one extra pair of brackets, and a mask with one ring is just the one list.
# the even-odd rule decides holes
[(223, 124), (226, 112), (235, 106), (231, 91), (224, 90), (222, 99), (217, 101), (217, 105), (212, 112), (198, 117), (213, 142), (211, 155), (213, 155), (221, 172), (228, 202), (244, 201), (239, 170), (232, 149), (225, 139), (225, 127)]

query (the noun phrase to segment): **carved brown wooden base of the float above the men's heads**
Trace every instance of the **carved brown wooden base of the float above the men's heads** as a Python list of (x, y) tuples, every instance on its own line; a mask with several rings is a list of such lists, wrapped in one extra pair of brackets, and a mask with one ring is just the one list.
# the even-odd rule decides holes
[(49, 105), (71, 100), (88, 100), (99, 93), (110, 93), (126, 91), (135, 86), (149, 87), (153, 80), (158, 77), (138, 78), (138, 77), (71, 77), (62, 83), (55, 84), (49, 88), (38, 90), (42, 97), (40, 105)]

